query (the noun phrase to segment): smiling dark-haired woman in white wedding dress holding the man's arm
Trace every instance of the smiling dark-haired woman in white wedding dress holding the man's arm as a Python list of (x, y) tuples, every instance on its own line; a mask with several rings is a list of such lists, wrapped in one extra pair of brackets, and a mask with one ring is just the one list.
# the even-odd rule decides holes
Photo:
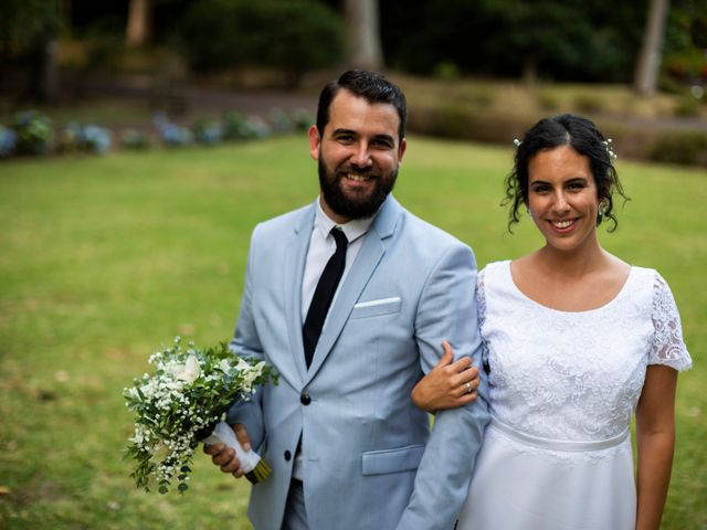
[[(657, 529), (677, 371), (692, 364), (673, 296), (599, 243), (597, 226), (616, 225), (613, 194), (625, 195), (594, 124), (542, 119), (516, 144), (509, 229), (523, 204), (546, 244), (478, 276), (493, 421), (457, 529)], [(454, 406), (460, 389), (443, 389), (464, 367), (450, 358), (413, 390), (419, 406)]]

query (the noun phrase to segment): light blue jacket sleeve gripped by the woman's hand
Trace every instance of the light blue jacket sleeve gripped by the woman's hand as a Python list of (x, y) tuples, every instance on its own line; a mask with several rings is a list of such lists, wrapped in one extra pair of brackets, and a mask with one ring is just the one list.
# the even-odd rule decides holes
[(415, 317), (422, 370), (426, 373), (437, 362), (446, 339), (455, 358), (472, 357), (482, 381), (474, 403), (437, 412), (399, 530), (451, 530), (466, 498), (489, 421), (475, 289), (474, 255), (461, 243), (442, 255), (423, 288)]

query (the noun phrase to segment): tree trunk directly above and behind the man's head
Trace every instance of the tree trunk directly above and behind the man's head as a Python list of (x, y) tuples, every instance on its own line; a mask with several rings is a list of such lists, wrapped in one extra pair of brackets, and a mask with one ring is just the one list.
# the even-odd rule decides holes
[(350, 65), (356, 68), (382, 70), (378, 0), (344, 0), (344, 17)]

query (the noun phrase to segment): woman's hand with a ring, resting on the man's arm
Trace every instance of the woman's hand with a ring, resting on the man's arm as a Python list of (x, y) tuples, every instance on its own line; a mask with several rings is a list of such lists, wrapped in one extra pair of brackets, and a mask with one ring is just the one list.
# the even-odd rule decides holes
[[(412, 389), (412, 401), (426, 412), (455, 409), (476, 400), (478, 369), (468, 357), (454, 361), (452, 347), (442, 342), (444, 353), (437, 364)], [(454, 361), (454, 362), (453, 362)]]

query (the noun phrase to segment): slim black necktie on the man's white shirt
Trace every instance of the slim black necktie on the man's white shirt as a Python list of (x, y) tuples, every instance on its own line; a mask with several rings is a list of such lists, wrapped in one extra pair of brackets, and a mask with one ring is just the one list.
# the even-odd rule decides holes
[(319, 335), (321, 335), (324, 320), (327, 318), (327, 311), (329, 310), (336, 287), (339, 285), (339, 280), (344, 274), (344, 266), (346, 265), (346, 246), (348, 245), (348, 240), (346, 235), (344, 235), (344, 232), (337, 227), (331, 229), (330, 234), (336, 240), (336, 252), (327, 262), (326, 267), (324, 267), (317, 288), (314, 289), (314, 297), (307, 311), (305, 325), (302, 328), (307, 368), (312, 364), (312, 358), (317, 347)]

